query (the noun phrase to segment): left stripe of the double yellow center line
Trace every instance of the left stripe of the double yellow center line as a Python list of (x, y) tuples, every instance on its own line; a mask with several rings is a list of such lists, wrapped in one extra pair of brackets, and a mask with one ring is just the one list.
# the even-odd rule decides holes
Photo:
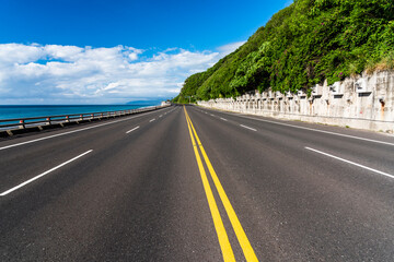
[[(186, 109), (185, 109), (185, 112), (186, 112)], [(217, 231), (217, 235), (218, 235), (218, 239), (219, 239), (219, 245), (220, 245), (220, 248), (221, 248), (221, 251), (222, 251), (223, 260), (224, 261), (235, 261), (234, 252), (233, 252), (233, 250), (231, 248), (229, 237), (227, 235), (227, 231), (225, 231), (225, 228), (224, 228), (224, 225), (223, 225), (223, 221), (221, 219), (221, 216), (220, 216), (220, 213), (219, 213), (219, 210), (218, 210), (218, 205), (217, 205), (217, 203), (215, 201), (212, 190), (211, 190), (211, 188), (209, 186), (207, 174), (206, 174), (206, 171), (204, 169), (201, 157), (200, 157), (200, 155), (198, 153), (198, 148), (197, 148), (195, 139), (194, 139), (193, 133), (192, 133), (189, 119), (187, 118), (186, 114), (185, 114), (185, 116), (186, 116), (187, 127), (188, 127), (190, 139), (192, 139), (193, 148), (194, 148), (194, 152), (195, 152), (195, 155), (196, 155), (196, 160), (197, 160), (197, 164), (198, 164), (198, 169), (200, 171), (204, 189), (205, 189), (205, 192), (206, 192), (206, 195), (207, 195), (209, 210), (210, 210), (211, 215), (212, 215), (213, 225), (215, 225), (215, 228), (216, 228), (216, 231)]]

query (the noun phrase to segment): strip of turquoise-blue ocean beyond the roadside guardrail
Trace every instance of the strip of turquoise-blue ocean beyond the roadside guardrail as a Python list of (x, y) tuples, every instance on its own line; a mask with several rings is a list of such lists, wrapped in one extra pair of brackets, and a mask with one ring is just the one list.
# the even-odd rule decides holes
[(0, 120), (46, 117), (72, 114), (104, 112), (136, 109), (152, 105), (56, 105), (56, 106), (0, 106)]

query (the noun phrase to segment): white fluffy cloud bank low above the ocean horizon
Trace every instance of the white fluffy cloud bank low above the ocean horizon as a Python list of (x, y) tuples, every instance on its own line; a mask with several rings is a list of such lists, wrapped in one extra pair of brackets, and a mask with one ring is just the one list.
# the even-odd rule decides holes
[[(184, 80), (239, 45), (218, 51), (164, 51), (0, 44), (0, 105), (119, 104), (174, 97)], [(232, 50), (230, 50), (233, 48)]]

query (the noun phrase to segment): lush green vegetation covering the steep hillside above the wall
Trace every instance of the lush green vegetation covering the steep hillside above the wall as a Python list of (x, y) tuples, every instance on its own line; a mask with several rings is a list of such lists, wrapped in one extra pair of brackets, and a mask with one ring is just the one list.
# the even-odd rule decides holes
[(394, 69), (393, 0), (294, 0), (234, 52), (190, 75), (174, 102), (296, 92)]

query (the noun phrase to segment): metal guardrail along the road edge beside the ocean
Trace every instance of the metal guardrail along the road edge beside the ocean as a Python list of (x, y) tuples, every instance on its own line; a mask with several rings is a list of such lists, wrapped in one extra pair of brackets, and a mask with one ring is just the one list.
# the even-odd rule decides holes
[(78, 123), (80, 121), (100, 120), (106, 118), (128, 116), (138, 112), (152, 111), (164, 107), (167, 107), (167, 105), (129, 109), (129, 110), (119, 110), (119, 111), (102, 111), (102, 112), (70, 114), (70, 115), (31, 117), (31, 118), (0, 119), (0, 131), (1, 130), (12, 131), (12, 130), (44, 127), (51, 124), (71, 123), (71, 122)]

